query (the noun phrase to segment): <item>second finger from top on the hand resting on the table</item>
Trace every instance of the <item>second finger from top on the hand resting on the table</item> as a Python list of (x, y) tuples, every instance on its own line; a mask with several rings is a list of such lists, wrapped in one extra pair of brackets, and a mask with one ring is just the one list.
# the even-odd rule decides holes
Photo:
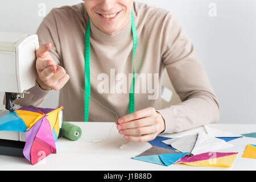
[(142, 119), (137, 119), (130, 122), (125, 122), (117, 125), (118, 130), (122, 129), (135, 129), (138, 127), (150, 126), (157, 123), (155, 117), (147, 117)]

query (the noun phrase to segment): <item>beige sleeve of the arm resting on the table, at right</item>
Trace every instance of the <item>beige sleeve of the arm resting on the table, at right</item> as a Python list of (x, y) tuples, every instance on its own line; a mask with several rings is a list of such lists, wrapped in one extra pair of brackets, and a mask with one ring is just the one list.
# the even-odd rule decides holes
[(158, 110), (166, 123), (164, 133), (175, 133), (218, 122), (218, 100), (191, 40), (174, 16), (164, 30), (166, 42), (163, 42), (162, 63), (182, 101), (181, 104)]

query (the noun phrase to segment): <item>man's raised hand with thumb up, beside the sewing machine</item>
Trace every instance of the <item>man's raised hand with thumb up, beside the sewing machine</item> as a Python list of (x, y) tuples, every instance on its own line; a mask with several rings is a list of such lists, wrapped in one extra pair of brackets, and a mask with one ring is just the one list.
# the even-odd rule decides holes
[(36, 81), (43, 90), (60, 90), (68, 82), (69, 75), (65, 69), (55, 64), (48, 52), (52, 44), (40, 44), (36, 51)]

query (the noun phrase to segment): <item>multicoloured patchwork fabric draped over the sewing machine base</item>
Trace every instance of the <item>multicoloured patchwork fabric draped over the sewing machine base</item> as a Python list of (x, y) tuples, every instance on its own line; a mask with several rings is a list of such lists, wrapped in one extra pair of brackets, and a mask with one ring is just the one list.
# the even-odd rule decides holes
[(50, 154), (56, 154), (62, 109), (21, 107), (9, 112), (0, 111), (0, 131), (23, 132), (26, 135), (23, 155), (33, 165)]

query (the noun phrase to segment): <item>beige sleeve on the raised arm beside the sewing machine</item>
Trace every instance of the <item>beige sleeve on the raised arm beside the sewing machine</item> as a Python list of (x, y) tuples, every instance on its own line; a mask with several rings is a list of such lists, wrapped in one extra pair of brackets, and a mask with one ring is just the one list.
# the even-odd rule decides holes
[[(36, 32), (39, 38), (39, 44), (44, 43), (52, 43), (52, 48), (49, 50), (51, 56), (56, 64), (60, 64), (61, 60), (61, 52), (60, 52), (60, 42), (58, 36), (57, 25), (55, 21), (54, 10), (52, 10), (42, 21), (40, 24), (38, 31)], [(24, 94), (24, 98), (20, 100), (16, 100), (15, 104), (20, 106), (40, 106), (44, 100), (46, 100), (50, 91), (46, 91), (40, 88), (38, 83), (36, 85), (27, 90), (29, 94)], [(4, 98), (5, 104), (5, 98)]]

